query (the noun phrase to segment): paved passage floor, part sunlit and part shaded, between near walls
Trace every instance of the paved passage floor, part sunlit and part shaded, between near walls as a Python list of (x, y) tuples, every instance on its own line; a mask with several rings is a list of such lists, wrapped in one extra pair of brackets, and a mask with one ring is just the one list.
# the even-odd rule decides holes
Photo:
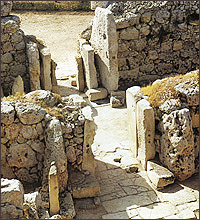
[[(195, 219), (199, 216), (198, 176), (155, 190), (128, 147), (127, 109), (94, 107), (93, 144), (99, 207), (77, 210), (77, 219)], [(131, 172), (129, 167), (139, 167)], [(84, 203), (87, 203), (86, 199)]]

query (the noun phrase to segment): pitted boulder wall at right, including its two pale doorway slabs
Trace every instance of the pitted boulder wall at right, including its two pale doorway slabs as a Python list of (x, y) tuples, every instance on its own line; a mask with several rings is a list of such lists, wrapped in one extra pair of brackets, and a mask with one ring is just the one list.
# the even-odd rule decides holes
[(130, 148), (144, 168), (157, 152), (160, 162), (181, 181), (199, 172), (199, 79), (193, 79), (198, 74), (192, 71), (184, 82), (177, 80), (179, 99), (167, 99), (159, 107), (150, 106), (139, 86), (126, 91)]

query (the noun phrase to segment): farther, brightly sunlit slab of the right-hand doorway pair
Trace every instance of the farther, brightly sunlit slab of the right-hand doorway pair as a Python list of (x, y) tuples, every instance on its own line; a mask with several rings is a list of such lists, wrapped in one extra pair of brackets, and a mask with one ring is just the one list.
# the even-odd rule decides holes
[(126, 105), (128, 114), (128, 131), (129, 131), (129, 146), (134, 157), (138, 154), (138, 143), (137, 143), (137, 127), (136, 127), (136, 106), (137, 101), (141, 99), (139, 96), (140, 87), (134, 86), (126, 90)]

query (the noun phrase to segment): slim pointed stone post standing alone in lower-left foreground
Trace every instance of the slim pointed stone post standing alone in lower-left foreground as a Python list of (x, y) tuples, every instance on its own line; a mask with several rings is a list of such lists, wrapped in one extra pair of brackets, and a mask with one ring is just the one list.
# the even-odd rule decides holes
[(50, 215), (56, 215), (60, 212), (59, 206), (59, 187), (58, 176), (55, 162), (51, 163), (49, 171), (49, 202), (50, 202)]

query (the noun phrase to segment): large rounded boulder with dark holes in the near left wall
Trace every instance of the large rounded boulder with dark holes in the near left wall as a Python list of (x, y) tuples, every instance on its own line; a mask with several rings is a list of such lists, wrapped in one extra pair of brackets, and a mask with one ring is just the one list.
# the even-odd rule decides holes
[(13, 143), (8, 152), (8, 164), (13, 167), (33, 167), (38, 162), (34, 151), (28, 144)]

